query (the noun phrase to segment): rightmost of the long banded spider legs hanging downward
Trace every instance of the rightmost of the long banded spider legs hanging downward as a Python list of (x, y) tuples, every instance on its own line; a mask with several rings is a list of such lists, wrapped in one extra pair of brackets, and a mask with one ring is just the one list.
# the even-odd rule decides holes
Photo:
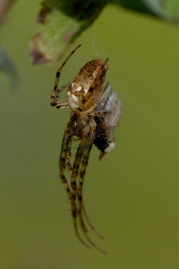
[[(83, 160), (82, 160), (82, 164), (81, 164), (81, 170), (80, 170), (80, 182), (79, 182), (79, 187), (78, 187), (78, 204), (79, 204), (78, 217), (79, 217), (79, 220), (80, 220), (81, 229), (83, 230), (83, 233), (84, 233), (85, 237), (87, 238), (87, 240), (90, 242), (90, 244), (92, 244), (93, 247), (95, 247), (96, 249), (98, 249), (102, 253), (106, 254), (106, 252), (104, 250), (102, 250), (100, 247), (98, 247), (89, 238), (89, 236), (87, 235), (87, 230), (86, 230), (86, 227), (85, 227), (85, 224), (84, 224), (84, 221), (83, 221), (83, 217), (82, 217), (82, 214), (81, 214), (81, 209), (83, 208), (83, 199), (82, 199), (83, 178), (84, 178), (85, 169), (86, 169), (86, 166), (87, 166), (87, 161), (88, 161), (88, 157), (90, 155), (90, 151), (91, 151), (91, 147), (92, 147), (92, 144), (93, 144), (94, 137), (95, 137), (95, 130), (92, 130), (91, 129), (90, 130), (90, 133), (89, 133), (89, 136), (88, 136), (88, 140), (87, 140), (86, 145), (85, 145), (85, 148), (84, 148), (84, 156), (83, 156)], [(87, 218), (87, 220), (88, 220), (88, 218)], [(91, 223), (90, 223), (89, 220), (88, 220), (88, 223), (90, 224), (90, 226), (92, 228), (94, 228), (91, 225)], [(93, 230), (95, 230), (95, 229), (93, 229)], [(97, 232), (97, 234), (99, 235), (98, 232)]]

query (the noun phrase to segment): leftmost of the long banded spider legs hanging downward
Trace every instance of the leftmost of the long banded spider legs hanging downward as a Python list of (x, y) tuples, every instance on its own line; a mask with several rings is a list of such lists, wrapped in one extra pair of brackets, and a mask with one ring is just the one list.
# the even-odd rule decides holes
[[(64, 187), (65, 187), (65, 189), (67, 191), (67, 195), (68, 195), (68, 197), (70, 199), (71, 205), (74, 205), (74, 199), (73, 199), (73, 195), (74, 194), (72, 194), (72, 192), (70, 191), (70, 188), (69, 188), (67, 179), (66, 179), (66, 177), (64, 175), (67, 150), (69, 149), (69, 143), (71, 143), (71, 137), (70, 137), (70, 134), (68, 133), (69, 124), (70, 124), (70, 122), (67, 124), (67, 127), (66, 127), (65, 132), (64, 132), (64, 137), (63, 137), (62, 147), (61, 147), (60, 161), (59, 161), (59, 168), (60, 168), (60, 178), (61, 178), (61, 181), (63, 182)], [(76, 211), (76, 207), (75, 207), (75, 211)], [(75, 215), (76, 215), (76, 212), (75, 212), (75, 214), (73, 213), (73, 220), (76, 218)], [(75, 221), (74, 221), (74, 226), (75, 226), (76, 235), (77, 235), (78, 239), (80, 240), (80, 242), (82, 244), (84, 244), (86, 247), (89, 248), (90, 246), (88, 244), (86, 244), (81, 239), (81, 237), (79, 236), (78, 230), (77, 230), (77, 226), (75, 224)]]

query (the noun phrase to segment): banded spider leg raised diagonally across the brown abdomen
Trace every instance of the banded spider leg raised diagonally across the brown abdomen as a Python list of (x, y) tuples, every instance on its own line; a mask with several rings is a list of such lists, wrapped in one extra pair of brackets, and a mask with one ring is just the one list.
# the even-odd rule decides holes
[[(101, 74), (101, 70), (102, 70), (102, 68), (104, 67), (104, 65), (107, 63), (108, 59), (109, 59), (109, 58), (107, 58), (106, 61), (101, 65), (101, 68), (99, 69), (98, 74), (97, 74), (97, 76), (95, 77), (95, 79), (94, 79), (94, 81), (93, 81), (91, 87), (89, 88), (89, 90), (88, 90), (87, 94), (85, 95), (83, 101), (81, 102), (79, 108), (77, 108), (77, 110), (76, 110), (76, 116), (77, 116), (77, 117), (80, 115), (80, 113), (83, 113), (83, 112), (84, 112), (84, 111), (83, 111), (83, 108), (84, 108), (84, 106), (85, 106), (85, 103), (86, 103), (87, 99), (90, 97), (90, 95), (92, 95), (93, 91), (95, 90), (95, 88), (96, 88), (96, 80), (99, 78), (99, 76), (100, 76), (100, 74)], [(94, 106), (94, 108), (95, 108), (95, 106)], [(82, 111), (82, 112), (81, 112), (81, 111)], [(87, 112), (87, 113), (88, 113), (88, 112)], [(83, 113), (83, 114), (84, 114), (84, 113)]]

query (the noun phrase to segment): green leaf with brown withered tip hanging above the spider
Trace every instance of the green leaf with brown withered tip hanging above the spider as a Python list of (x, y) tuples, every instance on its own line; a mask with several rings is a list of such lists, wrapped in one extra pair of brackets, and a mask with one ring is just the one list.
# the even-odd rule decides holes
[(30, 56), (34, 63), (52, 63), (61, 59), (70, 48), (69, 45), (92, 24), (104, 7), (103, 2), (95, 1), (94, 5), (90, 5), (94, 1), (86, 1), (86, 4), (81, 4), (83, 8), (71, 5), (70, 9), (71, 2), (43, 2), (43, 9), (37, 19), (41, 27), (30, 41)]

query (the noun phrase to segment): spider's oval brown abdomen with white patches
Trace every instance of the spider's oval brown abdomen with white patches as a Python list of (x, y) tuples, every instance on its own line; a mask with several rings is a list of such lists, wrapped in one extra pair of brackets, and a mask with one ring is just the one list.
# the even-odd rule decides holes
[(70, 83), (67, 90), (67, 102), (69, 107), (74, 111), (79, 108), (96, 77), (95, 90), (86, 100), (83, 110), (87, 110), (94, 105), (101, 96), (106, 85), (108, 68), (107, 64), (101, 68), (103, 64), (104, 62), (98, 59), (87, 62), (87, 64), (81, 68), (75, 79)]

